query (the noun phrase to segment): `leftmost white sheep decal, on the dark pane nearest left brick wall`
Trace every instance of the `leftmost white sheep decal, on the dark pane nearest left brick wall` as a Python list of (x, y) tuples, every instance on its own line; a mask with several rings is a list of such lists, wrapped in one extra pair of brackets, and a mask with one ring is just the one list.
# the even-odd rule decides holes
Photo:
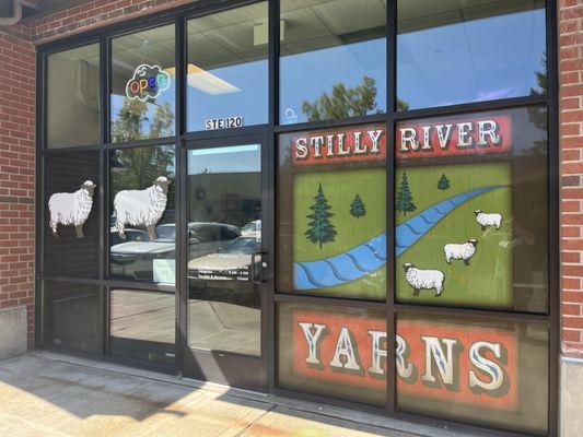
[(75, 192), (56, 192), (48, 199), (49, 226), (58, 237), (57, 225), (74, 225), (77, 238), (83, 238), (83, 224), (93, 206), (93, 191), (96, 185), (85, 180)]

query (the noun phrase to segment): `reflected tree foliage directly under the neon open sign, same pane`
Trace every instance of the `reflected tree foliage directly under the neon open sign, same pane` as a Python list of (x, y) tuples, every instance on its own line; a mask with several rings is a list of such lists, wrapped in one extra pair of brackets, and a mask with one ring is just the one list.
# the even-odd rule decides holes
[[(173, 125), (174, 113), (170, 103), (158, 105), (150, 120), (145, 102), (125, 98), (112, 127), (112, 140), (124, 142), (144, 138), (170, 137), (174, 134)], [(145, 132), (147, 127), (150, 128), (148, 132)]]

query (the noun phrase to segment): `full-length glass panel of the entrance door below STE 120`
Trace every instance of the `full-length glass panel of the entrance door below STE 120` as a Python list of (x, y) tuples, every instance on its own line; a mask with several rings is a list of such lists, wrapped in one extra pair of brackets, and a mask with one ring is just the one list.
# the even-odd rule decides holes
[(260, 355), (260, 145), (188, 152), (188, 343)]

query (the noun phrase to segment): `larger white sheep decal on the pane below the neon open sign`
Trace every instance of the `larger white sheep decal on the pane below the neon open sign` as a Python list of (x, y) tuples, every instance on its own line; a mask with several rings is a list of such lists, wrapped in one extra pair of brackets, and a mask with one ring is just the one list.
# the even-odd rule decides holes
[(119, 191), (114, 199), (116, 229), (120, 238), (126, 239), (126, 225), (145, 226), (150, 239), (155, 239), (154, 226), (166, 210), (168, 179), (156, 178), (144, 190)]

